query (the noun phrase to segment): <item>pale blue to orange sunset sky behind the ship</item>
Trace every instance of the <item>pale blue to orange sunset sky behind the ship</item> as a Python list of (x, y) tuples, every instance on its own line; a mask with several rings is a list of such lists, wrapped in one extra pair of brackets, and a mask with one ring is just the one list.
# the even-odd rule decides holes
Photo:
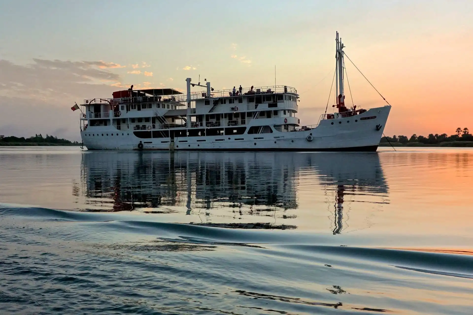
[[(473, 130), (473, 1), (26, 1), (0, 4), (0, 135), (79, 140), (84, 99), (135, 88), (293, 86), (301, 125), (335, 96), (335, 32), (393, 108), (385, 134)], [(385, 102), (345, 60), (357, 108)], [(347, 85), (347, 83), (345, 83)], [(350, 94), (350, 92), (352, 94)]]

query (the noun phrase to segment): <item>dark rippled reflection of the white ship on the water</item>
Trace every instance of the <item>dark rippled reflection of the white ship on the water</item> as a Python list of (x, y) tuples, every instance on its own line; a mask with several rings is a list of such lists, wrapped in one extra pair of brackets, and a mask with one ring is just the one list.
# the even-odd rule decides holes
[(139, 211), (215, 227), (324, 229), (330, 222), (340, 234), (344, 212), (362, 203), (366, 219), (388, 202), (377, 153), (85, 152), (81, 169), (82, 189), (74, 191), (86, 198), (82, 211)]

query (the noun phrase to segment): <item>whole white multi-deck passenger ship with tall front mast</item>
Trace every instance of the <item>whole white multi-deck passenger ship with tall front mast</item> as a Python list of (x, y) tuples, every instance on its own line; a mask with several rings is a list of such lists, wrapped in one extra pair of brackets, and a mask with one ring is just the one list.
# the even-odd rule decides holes
[[(186, 78), (186, 94), (131, 85), (113, 98), (74, 105), (72, 110), (81, 111), (82, 144), (88, 150), (376, 151), (391, 105), (345, 105), (345, 52), (338, 32), (335, 41), (336, 104), (315, 124), (300, 124), (294, 87), (214, 90), (207, 79), (201, 84)], [(196, 86), (205, 89), (193, 92)]]

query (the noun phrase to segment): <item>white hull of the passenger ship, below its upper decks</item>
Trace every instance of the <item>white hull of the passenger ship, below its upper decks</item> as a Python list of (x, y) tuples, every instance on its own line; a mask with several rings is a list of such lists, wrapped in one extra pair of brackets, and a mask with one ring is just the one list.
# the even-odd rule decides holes
[(140, 150), (141, 142), (142, 150), (165, 151), (376, 151), (390, 110), (391, 106), (384, 106), (351, 117), (323, 119), (316, 128), (293, 132), (143, 139), (132, 130), (94, 126), (81, 131), (81, 137), (89, 150)]

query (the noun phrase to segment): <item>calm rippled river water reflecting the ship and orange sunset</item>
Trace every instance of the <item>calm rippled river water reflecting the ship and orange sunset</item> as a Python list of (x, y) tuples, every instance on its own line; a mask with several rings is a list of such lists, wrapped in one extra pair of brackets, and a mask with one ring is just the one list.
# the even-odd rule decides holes
[(473, 150), (0, 149), (1, 314), (472, 314)]

